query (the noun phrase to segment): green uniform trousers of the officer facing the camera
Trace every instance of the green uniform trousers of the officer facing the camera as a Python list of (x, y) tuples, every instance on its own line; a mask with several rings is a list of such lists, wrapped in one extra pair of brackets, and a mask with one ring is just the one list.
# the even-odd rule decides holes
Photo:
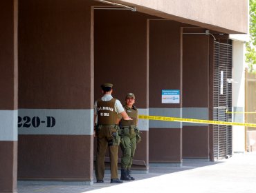
[[(129, 130), (129, 134), (128, 134)], [(130, 170), (136, 150), (136, 134), (134, 128), (122, 128), (120, 147), (122, 150), (121, 167)]]

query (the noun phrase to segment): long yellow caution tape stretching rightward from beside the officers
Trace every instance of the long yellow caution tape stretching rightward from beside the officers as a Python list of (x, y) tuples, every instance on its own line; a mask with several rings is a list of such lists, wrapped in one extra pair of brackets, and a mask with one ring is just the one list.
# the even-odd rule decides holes
[(168, 116), (149, 116), (149, 115), (138, 115), (139, 119), (149, 119), (156, 121), (176, 121), (176, 122), (186, 122), (186, 123), (202, 123), (202, 124), (212, 124), (212, 125), (238, 125), (256, 128), (254, 123), (235, 123), (235, 122), (225, 122), (225, 121), (209, 121), (203, 119), (185, 119), (179, 117), (168, 117)]

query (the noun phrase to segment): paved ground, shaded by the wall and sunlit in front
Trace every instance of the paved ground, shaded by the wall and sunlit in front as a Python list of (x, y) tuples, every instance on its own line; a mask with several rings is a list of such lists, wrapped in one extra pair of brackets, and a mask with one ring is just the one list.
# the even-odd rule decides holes
[(119, 185), (105, 183), (93, 185), (18, 185), (19, 193), (131, 193), (131, 192), (256, 192), (256, 152), (235, 154), (230, 159), (209, 162), (185, 160), (182, 167), (149, 165), (148, 174), (133, 174), (136, 181)]

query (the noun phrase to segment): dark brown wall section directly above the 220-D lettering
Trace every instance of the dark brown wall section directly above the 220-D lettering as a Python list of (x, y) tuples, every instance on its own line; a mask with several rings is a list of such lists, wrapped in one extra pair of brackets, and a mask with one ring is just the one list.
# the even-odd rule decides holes
[(19, 1), (19, 108), (92, 108), (91, 68), (89, 1)]

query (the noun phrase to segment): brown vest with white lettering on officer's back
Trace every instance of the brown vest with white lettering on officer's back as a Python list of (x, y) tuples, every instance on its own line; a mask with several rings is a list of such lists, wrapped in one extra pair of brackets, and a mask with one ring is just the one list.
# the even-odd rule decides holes
[(118, 114), (115, 111), (116, 99), (111, 99), (110, 101), (102, 101), (99, 99), (97, 101), (98, 108), (98, 124), (101, 125), (113, 125), (116, 124)]

